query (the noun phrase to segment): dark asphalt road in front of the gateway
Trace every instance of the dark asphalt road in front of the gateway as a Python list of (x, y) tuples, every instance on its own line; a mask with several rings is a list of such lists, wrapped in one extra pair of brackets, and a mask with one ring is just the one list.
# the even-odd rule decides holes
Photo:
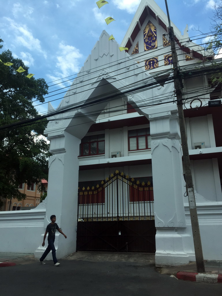
[(222, 283), (181, 281), (153, 264), (59, 260), (0, 268), (4, 296), (221, 296)]

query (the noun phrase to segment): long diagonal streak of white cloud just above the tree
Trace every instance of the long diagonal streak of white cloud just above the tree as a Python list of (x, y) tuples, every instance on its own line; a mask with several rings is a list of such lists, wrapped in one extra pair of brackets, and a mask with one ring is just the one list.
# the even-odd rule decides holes
[(42, 50), (39, 39), (34, 38), (32, 32), (27, 28), (26, 25), (16, 23), (9, 17), (5, 17), (5, 20), (9, 22), (9, 29), (14, 34), (14, 45), (24, 46), (29, 50), (36, 51), (46, 58), (46, 52)]

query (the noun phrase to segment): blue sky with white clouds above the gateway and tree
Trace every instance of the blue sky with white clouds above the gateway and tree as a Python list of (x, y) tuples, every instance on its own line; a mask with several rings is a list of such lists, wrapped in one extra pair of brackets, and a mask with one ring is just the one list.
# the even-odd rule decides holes
[[(103, 30), (122, 42), (140, 0), (108, 2), (99, 9), (95, 0), (7, 0), (0, 10), (0, 38), (4, 41), (0, 53), (9, 49), (29, 67), (29, 73), (44, 78), (49, 86), (63, 81), (49, 91), (61, 86), (68, 90), (71, 81), (64, 82), (64, 78), (75, 77)], [(156, 3), (166, 13), (165, 0)], [(168, 0), (170, 19), (182, 34), (188, 24), (191, 39), (200, 34), (198, 30), (207, 37), (214, 4), (214, 0)], [(115, 21), (107, 25), (106, 17)], [(56, 99), (52, 102), (56, 108), (62, 95), (45, 99)], [(48, 107), (43, 104), (36, 108), (43, 114)]]

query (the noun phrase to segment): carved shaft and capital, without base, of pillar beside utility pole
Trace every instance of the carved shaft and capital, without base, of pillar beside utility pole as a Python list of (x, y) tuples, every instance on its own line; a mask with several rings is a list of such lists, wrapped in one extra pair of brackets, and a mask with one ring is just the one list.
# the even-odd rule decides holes
[(160, 111), (149, 114), (155, 225), (166, 229), (184, 228), (186, 219), (178, 113), (176, 109), (169, 110), (169, 106)]

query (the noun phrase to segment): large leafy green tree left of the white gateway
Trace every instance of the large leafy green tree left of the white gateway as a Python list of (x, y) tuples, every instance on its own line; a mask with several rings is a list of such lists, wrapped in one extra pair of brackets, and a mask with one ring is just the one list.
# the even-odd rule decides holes
[[(0, 126), (38, 116), (33, 100), (44, 102), (44, 95), (48, 93), (45, 80), (25, 77), (29, 68), (9, 50), (2, 52), (0, 59)], [(13, 65), (4, 65), (6, 62)], [(18, 73), (16, 70), (20, 66), (26, 71)], [(26, 195), (18, 190), (21, 183), (31, 185), (33, 182), (39, 190), (45, 191), (41, 188), (41, 179), (47, 179), (48, 173), (49, 144), (42, 136), (46, 124), (46, 121), (37, 121), (0, 131), (2, 198), (25, 199)]]

